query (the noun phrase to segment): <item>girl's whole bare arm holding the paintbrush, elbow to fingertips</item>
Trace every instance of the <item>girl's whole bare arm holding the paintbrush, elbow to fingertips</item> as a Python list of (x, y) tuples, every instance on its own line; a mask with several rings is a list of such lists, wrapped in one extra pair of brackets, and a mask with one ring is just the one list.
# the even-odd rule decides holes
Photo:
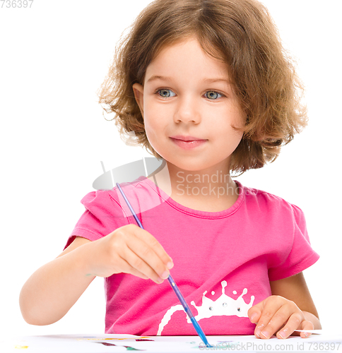
[(161, 283), (172, 266), (172, 259), (158, 241), (136, 225), (120, 227), (95, 241), (76, 237), (63, 253), (25, 282), (20, 310), (26, 322), (49, 325), (71, 309), (95, 276), (130, 273)]

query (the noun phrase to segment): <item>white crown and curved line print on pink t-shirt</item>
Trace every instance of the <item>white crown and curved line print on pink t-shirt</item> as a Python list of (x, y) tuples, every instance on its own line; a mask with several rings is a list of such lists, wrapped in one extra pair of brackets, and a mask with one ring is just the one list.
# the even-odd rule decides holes
[[(225, 294), (225, 287), (227, 287), (227, 282), (222, 281), (222, 294), (215, 301), (206, 297), (206, 292), (204, 292), (202, 297), (202, 304), (200, 306), (196, 306), (194, 301), (191, 301), (191, 305), (193, 305), (197, 309), (197, 315), (194, 317), (196, 321), (200, 321), (202, 318), (211, 318), (212, 316), (233, 316), (236, 315), (238, 317), (247, 318), (247, 311), (252, 307), (254, 302), (254, 295), (251, 296), (251, 300), (249, 304), (247, 304), (242, 297), (247, 293), (247, 288), (244, 288), (242, 294), (237, 299), (232, 299)], [(237, 294), (236, 291), (232, 292), (233, 294)], [(211, 294), (215, 294), (215, 292), (211, 292)], [(178, 304), (175, 306), (171, 306), (169, 310), (165, 313), (162, 321), (160, 321), (159, 329), (157, 335), (161, 335), (163, 328), (170, 321), (171, 316), (175, 311), (183, 310), (183, 306)], [(187, 322), (191, 323), (189, 316), (187, 316)]]

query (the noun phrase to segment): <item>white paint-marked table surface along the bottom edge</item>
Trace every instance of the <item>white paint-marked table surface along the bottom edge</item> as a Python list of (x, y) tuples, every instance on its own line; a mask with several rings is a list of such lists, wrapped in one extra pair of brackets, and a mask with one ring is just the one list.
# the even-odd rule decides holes
[(342, 334), (291, 336), (269, 340), (254, 336), (207, 336), (213, 346), (204, 346), (199, 336), (135, 336), (106, 334), (0, 336), (0, 352), (107, 353), (107, 352), (342, 352)]

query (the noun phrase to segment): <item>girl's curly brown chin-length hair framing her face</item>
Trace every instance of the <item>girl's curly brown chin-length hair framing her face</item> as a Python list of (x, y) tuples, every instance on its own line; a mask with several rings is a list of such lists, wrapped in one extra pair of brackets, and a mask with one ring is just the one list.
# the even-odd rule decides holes
[(257, 0), (155, 0), (140, 13), (119, 41), (98, 92), (100, 104), (107, 106), (103, 109), (115, 113), (122, 138), (161, 158), (148, 142), (132, 85), (143, 85), (148, 64), (163, 47), (189, 36), (196, 36), (206, 53), (228, 64), (246, 116), (230, 169), (243, 173), (276, 160), (281, 146), (307, 124), (307, 109), (301, 103), (303, 86), (293, 60), (269, 12)]

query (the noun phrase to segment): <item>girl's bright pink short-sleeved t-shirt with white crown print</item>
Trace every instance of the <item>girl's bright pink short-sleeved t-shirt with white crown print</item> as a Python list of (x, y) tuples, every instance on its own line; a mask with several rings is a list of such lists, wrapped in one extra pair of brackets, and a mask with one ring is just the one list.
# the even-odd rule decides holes
[[(270, 281), (300, 273), (319, 256), (309, 244), (300, 208), (235, 181), (228, 210), (204, 212), (175, 202), (151, 180), (120, 184), (139, 220), (175, 266), (171, 274), (206, 335), (253, 335), (247, 311), (271, 295)], [(75, 236), (91, 241), (136, 221), (121, 193), (92, 191)], [(105, 278), (106, 333), (196, 335), (170, 283), (134, 275)]]

